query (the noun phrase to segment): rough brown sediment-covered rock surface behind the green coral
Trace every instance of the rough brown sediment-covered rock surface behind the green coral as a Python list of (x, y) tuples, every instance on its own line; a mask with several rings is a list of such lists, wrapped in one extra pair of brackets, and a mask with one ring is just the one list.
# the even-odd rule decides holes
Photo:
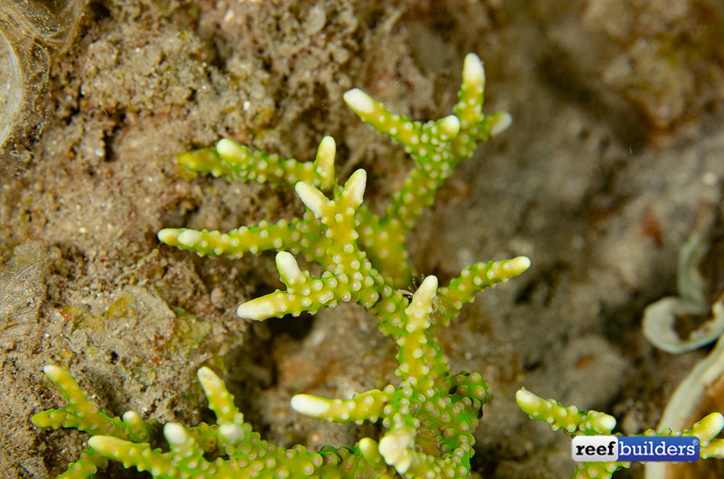
[[(395, 348), (361, 307), (249, 324), (235, 306), (281, 286), (271, 252), (198, 258), (156, 238), (164, 227), (290, 220), (299, 200), (191, 177), (174, 155), (231, 137), (310, 160), (331, 135), (340, 180), (365, 168), (366, 200), (380, 208), (409, 163), (342, 93), (359, 87), (414, 119), (443, 117), (467, 52), (485, 62), (485, 111), (514, 122), (460, 165), (409, 249), (418, 277), (443, 284), (475, 261), (532, 260), (443, 333), (452, 370), (491, 382), (475, 473), (573, 474), (567, 437), (519, 411), (520, 387), (609, 412), (624, 433), (655, 427), (708, 350), (661, 352), (641, 319), (676, 293), (691, 231), (714, 246), (721, 237), (719, 2), (99, 1), (53, 53), (47, 95), (33, 100), (43, 127), (28, 116), (2, 153), (0, 475), (53, 476), (81, 452), (85, 435), (30, 423), (62, 404), (46, 364), (114, 414), (212, 419), (195, 380), (209, 365), (275, 444), (374, 436), (289, 408), (298, 392), (347, 398), (395, 380)], [(711, 297), (719, 250), (704, 265)], [(724, 410), (724, 399), (710, 403)], [(724, 474), (716, 461), (699, 466), (698, 477)], [(118, 464), (98, 476), (149, 477)]]

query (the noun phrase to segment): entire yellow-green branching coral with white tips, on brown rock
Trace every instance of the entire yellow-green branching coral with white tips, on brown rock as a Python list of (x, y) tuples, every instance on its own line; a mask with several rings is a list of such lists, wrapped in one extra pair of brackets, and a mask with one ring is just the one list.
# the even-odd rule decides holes
[[(482, 408), (490, 401), (488, 383), (477, 372), (452, 372), (443, 355), (437, 331), (450, 324), (462, 306), (487, 286), (505, 282), (529, 268), (529, 258), (476, 263), (464, 268), (449, 285), (436, 277), (424, 278), (412, 297), (402, 288), (412, 284), (405, 235), (445, 178), (477, 143), (487, 141), (510, 125), (505, 112), (482, 114), (484, 70), (475, 54), (465, 57), (462, 88), (453, 115), (422, 123), (390, 113), (359, 89), (344, 95), (357, 116), (405, 146), (414, 161), (400, 191), (393, 194), (385, 214), (378, 216), (363, 204), (367, 174), (357, 170), (344, 186), (335, 174), (335, 142), (325, 137), (313, 163), (300, 163), (267, 155), (221, 140), (214, 148), (178, 157), (193, 170), (224, 175), (232, 180), (271, 183), (294, 188), (307, 211), (301, 219), (242, 227), (228, 233), (167, 229), (158, 239), (201, 255), (230, 255), (279, 251), (276, 266), (286, 289), (243, 303), (237, 314), (262, 321), (272, 316), (315, 313), (338, 302), (362, 305), (373, 315), (379, 331), (398, 346), (397, 384), (360, 392), (351, 399), (325, 399), (298, 394), (291, 408), (312, 418), (345, 423), (380, 421), (379, 438), (364, 437), (353, 446), (324, 446), (319, 452), (302, 446), (284, 448), (262, 440), (244, 422), (243, 414), (213, 371), (201, 368), (198, 380), (215, 425), (163, 426), (167, 452), (148, 444), (161, 426), (144, 421), (134, 412), (111, 418), (87, 399), (71, 376), (57, 366), (46, 366), (46, 376), (61, 391), (67, 406), (33, 416), (37, 427), (76, 427), (91, 435), (89, 449), (72, 463), (64, 478), (90, 477), (108, 460), (148, 471), (163, 478), (226, 477), (406, 477), (456, 478), (471, 475), (474, 431)], [(331, 199), (330, 199), (331, 198)], [(316, 277), (300, 269), (294, 255), (317, 263), (324, 272)], [(607, 435), (615, 420), (603, 413), (579, 412), (527, 390), (517, 396), (519, 406), (532, 418), (546, 421), (569, 436)], [(712, 440), (724, 418), (712, 414), (691, 431), (665, 431), (660, 435), (700, 437), (702, 457), (724, 454), (722, 440)], [(653, 435), (653, 432), (647, 435)], [(215, 459), (208, 459), (215, 451)], [(212, 455), (213, 456), (213, 455)], [(609, 477), (630, 463), (581, 463), (576, 477)]]

